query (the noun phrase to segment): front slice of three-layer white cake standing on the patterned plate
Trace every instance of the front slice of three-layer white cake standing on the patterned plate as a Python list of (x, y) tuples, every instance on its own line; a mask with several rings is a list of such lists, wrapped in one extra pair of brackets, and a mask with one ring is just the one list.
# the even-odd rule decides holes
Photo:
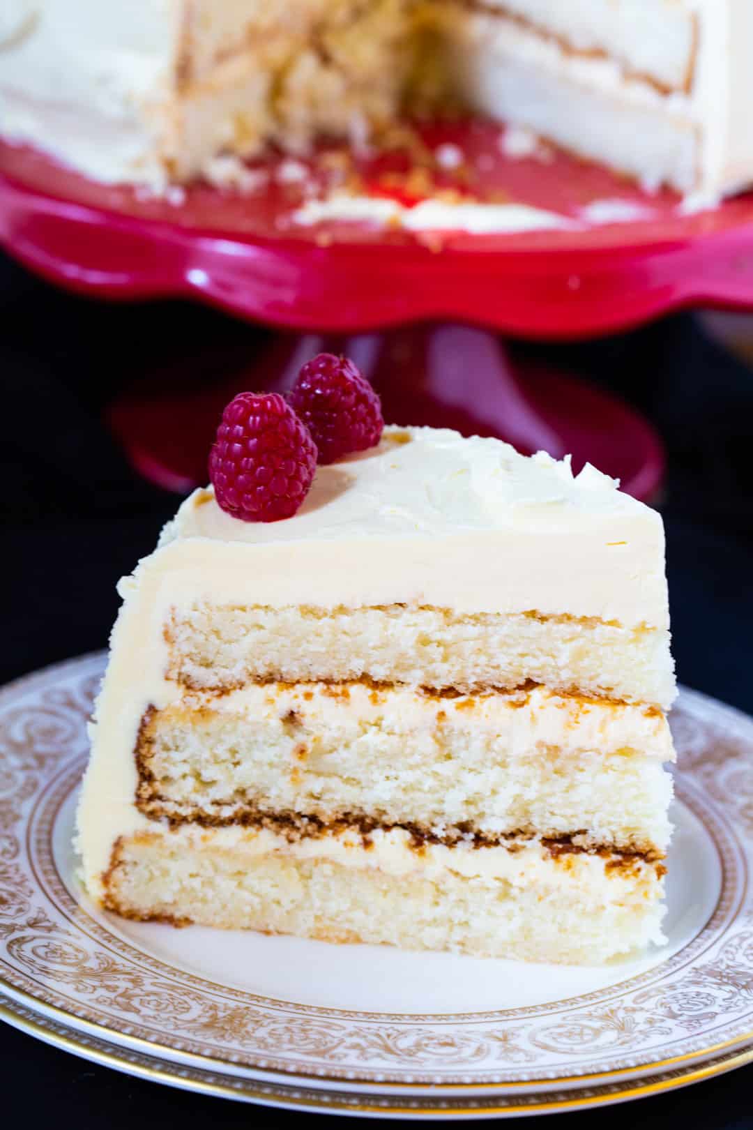
[(196, 490), (120, 592), (79, 811), (102, 906), (546, 962), (662, 940), (663, 527), (612, 479), (387, 428), (282, 521)]

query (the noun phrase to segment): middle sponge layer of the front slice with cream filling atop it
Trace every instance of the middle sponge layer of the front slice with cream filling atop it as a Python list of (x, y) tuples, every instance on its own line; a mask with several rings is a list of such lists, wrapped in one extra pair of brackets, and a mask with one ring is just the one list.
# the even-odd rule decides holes
[(148, 713), (138, 807), (174, 825), (403, 826), (487, 846), (581, 829), (581, 847), (660, 855), (673, 756), (655, 707), (541, 687), (448, 697), (252, 685)]

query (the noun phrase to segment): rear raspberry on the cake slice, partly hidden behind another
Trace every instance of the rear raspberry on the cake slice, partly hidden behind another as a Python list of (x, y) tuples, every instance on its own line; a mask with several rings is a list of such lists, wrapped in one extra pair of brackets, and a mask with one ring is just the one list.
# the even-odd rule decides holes
[(312, 433), (319, 463), (366, 451), (382, 438), (379, 398), (347, 357), (319, 354), (309, 360), (298, 374), (288, 403)]

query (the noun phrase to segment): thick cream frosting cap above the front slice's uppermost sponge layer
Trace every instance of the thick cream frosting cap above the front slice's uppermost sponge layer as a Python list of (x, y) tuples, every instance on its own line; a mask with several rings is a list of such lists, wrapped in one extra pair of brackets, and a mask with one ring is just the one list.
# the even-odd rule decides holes
[(194, 597), (257, 605), (668, 624), (658, 514), (595, 468), (575, 476), (569, 459), (449, 431), (387, 429), (377, 449), (319, 468), (284, 522), (240, 522), (198, 490), (160, 546), (124, 591), (169, 576), (173, 594), (185, 579)]

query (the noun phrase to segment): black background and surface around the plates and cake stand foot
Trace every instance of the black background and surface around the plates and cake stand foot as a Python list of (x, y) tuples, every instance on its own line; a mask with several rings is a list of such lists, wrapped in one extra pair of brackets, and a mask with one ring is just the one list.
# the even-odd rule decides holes
[[(110, 440), (100, 424), (107, 399), (143, 373), (145, 358), (169, 362), (177, 342), (184, 356), (213, 342), (247, 342), (253, 357), (261, 339), (261, 331), (193, 306), (108, 306), (63, 295), (0, 258), (0, 683), (104, 646), (115, 579), (150, 551), (175, 508), (175, 497), (139, 481)], [(543, 351), (619, 391), (662, 432), (678, 676), (753, 713), (753, 373), (690, 315)], [(0, 1064), (3, 1113), (17, 1112), (25, 1125), (314, 1124), (299, 1113), (134, 1080), (5, 1025)], [(753, 1068), (560, 1119), (752, 1130)]]

